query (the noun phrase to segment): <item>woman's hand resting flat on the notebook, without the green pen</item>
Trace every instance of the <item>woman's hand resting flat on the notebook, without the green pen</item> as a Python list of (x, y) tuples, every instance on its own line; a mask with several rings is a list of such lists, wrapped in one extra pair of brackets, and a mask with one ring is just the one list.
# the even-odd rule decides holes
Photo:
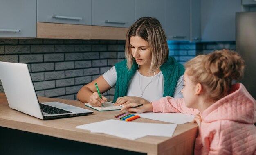
[(125, 97), (117, 98), (117, 101), (115, 102), (114, 105), (127, 105), (129, 103), (147, 104), (150, 102), (140, 97), (125, 96)]

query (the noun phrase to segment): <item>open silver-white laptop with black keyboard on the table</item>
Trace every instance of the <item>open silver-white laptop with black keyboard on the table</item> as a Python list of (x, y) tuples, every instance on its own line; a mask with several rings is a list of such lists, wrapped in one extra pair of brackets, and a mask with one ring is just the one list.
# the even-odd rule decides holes
[(42, 120), (92, 114), (93, 111), (59, 102), (39, 103), (25, 63), (0, 61), (0, 79), (9, 107)]

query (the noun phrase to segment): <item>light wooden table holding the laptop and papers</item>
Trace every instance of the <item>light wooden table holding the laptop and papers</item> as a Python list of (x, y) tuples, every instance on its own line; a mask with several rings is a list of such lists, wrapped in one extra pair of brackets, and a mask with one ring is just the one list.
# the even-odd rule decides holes
[[(38, 97), (40, 102), (58, 101), (90, 109), (75, 100)], [(90, 109), (93, 110), (93, 109)], [(61, 118), (55, 120), (40, 120), (33, 116), (13, 110), (9, 107), (4, 93), (0, 93), (0, 126), (31, 133), (49, 135), (67, 140), (108, 146), (128, 151), (147, 153), (148, 155), (191, 155), (197, 135), (198, 126), (195, 123), (177, 125), (173, 137), (146, 136), (137, 140), (128, 140), (106, 134), (90, 133), (83, 129), (76, 129), (77, 125), (115, 119), (119, 111), (95, 111), (88, 116)], [(146, 118), (139, 118), (133, 122), (166, 123)]]

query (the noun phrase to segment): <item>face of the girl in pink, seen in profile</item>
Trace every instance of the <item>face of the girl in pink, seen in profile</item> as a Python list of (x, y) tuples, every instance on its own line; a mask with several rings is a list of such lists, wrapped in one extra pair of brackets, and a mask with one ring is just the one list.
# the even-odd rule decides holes
[(197, 87), (191, 81), (190, 77), (186, 74), (186, 71), (184, 73), (183, 85), (184, 87), (181, 92), (183, 94), (186, 107), (197, 109), (198, 95), (195, 94), (197, 91)]

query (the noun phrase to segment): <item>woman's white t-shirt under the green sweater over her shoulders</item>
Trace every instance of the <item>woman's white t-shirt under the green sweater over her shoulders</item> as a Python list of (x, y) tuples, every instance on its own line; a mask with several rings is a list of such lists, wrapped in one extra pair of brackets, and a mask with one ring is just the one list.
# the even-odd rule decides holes
[[(103, 74), (104, 79), (107, 83), (114, 87), (117, 82), (117, 71), (115, 66), (110, 68), (106, 73)], [(182, 98), (183, 95), (181, 90), (183, 88), (183, 75), (180, 76), (173, 93), (174, 98)], [(142, 96), (141, 96), (142, 95)], [(142, 97), (151, 101), (156, 101), (162, 98), (164, 95), (164, 76), (160, 71), (155, 76), (147, 77), (143, 76), (137, 70), (128, 84), (127, 96)]]

